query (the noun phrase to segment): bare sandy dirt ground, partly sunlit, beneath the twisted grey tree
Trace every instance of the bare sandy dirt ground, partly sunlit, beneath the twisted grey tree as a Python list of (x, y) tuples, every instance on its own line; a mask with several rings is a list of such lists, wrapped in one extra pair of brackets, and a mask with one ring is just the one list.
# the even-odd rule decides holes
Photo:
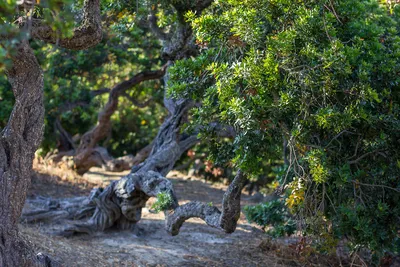
[[(105, 185), (125, 174), (92, 169), (76, 178), (62, 171), (52, 173), (54, 170), (36, 169), (28, 197), (85, 196), (93, 186)], [(180, 204), (198, 200), (218, 206), (226, 189), (225, 185), (177, 172), (168, 177)], [(50, 224), (21, 224), (21, 232), (37, 251), (49, 254), (63, 266), (311, 266), (288, 249), (271, 246), (265, 233), (247, 223), (243, 214), (233, 234), (211, 228), (200, 219), (190, 219), (178, 236), (170, 236), (164, 230), (164, 215), (149, 211), (154, 201), (148, 201), (134, 232), (109, 230), (65, 238), (52, 235), (58, 226)], [(242, 197), (242, 206), (253, 203), (252, 197)]]

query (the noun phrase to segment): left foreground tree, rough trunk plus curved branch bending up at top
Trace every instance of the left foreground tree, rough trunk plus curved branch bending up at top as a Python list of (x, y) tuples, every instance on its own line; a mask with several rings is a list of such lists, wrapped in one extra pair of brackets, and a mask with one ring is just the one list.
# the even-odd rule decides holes
[[(57, 44), (68, 49), (86, 49), (97, 44), (102, 37), (100, 0), (86, 0), (79, 27), (68, 37), (54, 30), (54, 25), (32, 16), (40, 1), (2, 3), (0, 6), (3, 51), (11, 49), (9, 65), (3, 66), (12, 86), (15, 104), (0, 140), (0, 265), (1, 266), (49, 266), (48, 258), (36, 256), (21, 239), (18, 221), (30, 185), (32, 160), (39, 147), (44, 129), (43, 73), (30, 47), (29, 40)], [(55, 1), (57, 2), (57, 1)], [(46, 5), (59, 8), (57, 3)], [(23, 11), (20, 11), (23, 10)], [(10, 15), (13, 14), (13, 15)], [(20, 15), (16, 27), (10, 21)], [(9, 19), (7, 20), (3, 20)], [(18, 38), (18, 39), (17, 39)], [(17, 44), (12, 47), (13, 44)]]

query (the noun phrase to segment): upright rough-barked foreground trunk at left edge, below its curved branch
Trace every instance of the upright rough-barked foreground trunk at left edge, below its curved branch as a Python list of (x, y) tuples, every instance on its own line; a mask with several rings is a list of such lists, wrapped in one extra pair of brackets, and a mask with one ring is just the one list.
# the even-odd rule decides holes
[(36, 266), (39, 260), (18, 233), (44, 129), (43, 74), (27, 42), (18, 47), (7, 76), (15, 105), (0, 139), (0, 266)]

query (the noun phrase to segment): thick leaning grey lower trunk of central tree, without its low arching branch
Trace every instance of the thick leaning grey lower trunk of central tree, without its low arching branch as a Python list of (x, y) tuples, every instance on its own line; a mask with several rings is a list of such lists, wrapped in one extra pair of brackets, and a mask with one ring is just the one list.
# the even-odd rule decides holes
[[(165, 97), (164, 103), (170, 114), (160, 127), (150, 156), (134, 166), (129, 175), (105, 188), (91, 202), (96, 207), (92, 217), (85, 223), (66, 227), (63, 235), (91, 233), (114, 225), (122, 229), (132, 228), (141, 219), (142, 208), (150, 197), (156, 197), (164, 190), (175, 196), (172, 184), (164, 176), (182, 153), (198, 140), (194, 136), (183, 138), (179, 131), (192, 102)], [(87, 207), (84, 205), (81, 209)]]

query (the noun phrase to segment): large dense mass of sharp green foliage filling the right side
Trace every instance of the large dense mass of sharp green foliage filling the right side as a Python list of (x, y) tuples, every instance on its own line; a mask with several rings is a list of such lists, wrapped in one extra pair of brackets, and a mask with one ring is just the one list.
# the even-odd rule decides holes
[[(187, 14), (203, 53), (177, 62), (170, 81), (202, 100), (193, 124), (216, 161), (257, 174), (287, 140), (277, 178), (304, 231), (332, 224), (321, 242), (346, 237), (377, 258), (398, 252), (399, 11), (375, 0), (215, 1)], [(236, 137), (207, 131), (213, 121)]]

